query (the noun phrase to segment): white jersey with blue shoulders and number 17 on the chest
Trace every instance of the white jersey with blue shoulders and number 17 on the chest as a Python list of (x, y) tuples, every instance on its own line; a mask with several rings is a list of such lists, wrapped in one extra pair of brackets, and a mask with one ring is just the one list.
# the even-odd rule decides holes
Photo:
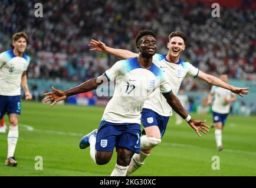
[(140, 112), (148, 96), (157, 88), (162, 93), (172, 91), (161, 69), (154, 63), (144, 69), (137, 58), (116, 62), (105, 75), (116, 82), (113, 98), (102, 117), (107, 122), (140, 124)]

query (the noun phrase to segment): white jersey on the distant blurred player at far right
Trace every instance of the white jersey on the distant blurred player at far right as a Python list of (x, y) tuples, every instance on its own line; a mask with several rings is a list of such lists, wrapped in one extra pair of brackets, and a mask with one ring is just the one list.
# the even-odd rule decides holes
[(230, 99), (233, 95), (228, 89), (212, 86), (210, 93), (214, 95), (214, 102), (212, 103), (212, 111), (217, 113), (229, 113), (230, 102), (225, 102), (225, 98)]

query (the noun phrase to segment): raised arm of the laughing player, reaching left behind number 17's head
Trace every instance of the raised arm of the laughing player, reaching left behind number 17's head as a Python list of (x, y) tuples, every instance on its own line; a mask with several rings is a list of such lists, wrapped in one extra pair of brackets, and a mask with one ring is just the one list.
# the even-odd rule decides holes
[(127, 51), (126, 49), (111, 48), (106, 46), (105, 43), (96, 41), (94, 39), (91, 39), (89, 46), (91, 47), (90, 51), (106, 52), (122, 59), (135, 58), (139, 56), (139, 53), (133, 53), (131, 51)]

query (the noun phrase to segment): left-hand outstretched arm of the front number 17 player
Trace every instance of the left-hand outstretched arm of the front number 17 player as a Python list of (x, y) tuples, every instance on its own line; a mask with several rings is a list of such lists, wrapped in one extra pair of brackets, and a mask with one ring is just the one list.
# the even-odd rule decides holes
[(44, 102), (47, 103), (49, 101), (52, 101), (50, 106), (54, 106), (55, 103), (57, 103), (61, 100), (64, 100), (64, 99), (68, 98), (69, 96), (73, 96), (73, 95), (77, 95), (79, 93), (85, 93), (90, 90), (97, 89), (97, 87), (99, 85), (101, 85), (101, 83), (103, 83), (104, 80), (107, 80), (107, 77), (105, 75), (101, 75), (97, 78), (87, 80), (86, 82), (76, 86), (75, 88), (68, 89), (65, 91), (55, 89), (52, 86), (53, 92), (44, 93), (44, 96), (46, 96), (46, 98), (44, 98)]

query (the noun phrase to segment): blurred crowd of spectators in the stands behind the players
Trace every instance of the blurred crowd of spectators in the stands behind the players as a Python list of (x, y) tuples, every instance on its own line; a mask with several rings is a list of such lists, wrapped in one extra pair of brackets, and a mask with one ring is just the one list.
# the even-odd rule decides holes
[[(158, 53), (167, 53), (170, 32), (188, 35), (182, 58), (212, 75), (256, 80), (256, 11), (222, 8), (219, 18), (209, 5), (185, 1), (59, 0), (41, 1), (43, 17), (35, 18), (36, 1), (0, 1), (0, 52), (11, 47), (12, 33), (29, 35), (29, 78), (80, 81), (101, 75), (118, 59), (90, 52), (90, 39), (136, 52), (141, 29), (157, 34)], [(249, 6), (250, 7), (250, 6)], [(186, 90), (208, 87), (186, 79)], [(209, 89), (209, 88), (207, 88)]]

